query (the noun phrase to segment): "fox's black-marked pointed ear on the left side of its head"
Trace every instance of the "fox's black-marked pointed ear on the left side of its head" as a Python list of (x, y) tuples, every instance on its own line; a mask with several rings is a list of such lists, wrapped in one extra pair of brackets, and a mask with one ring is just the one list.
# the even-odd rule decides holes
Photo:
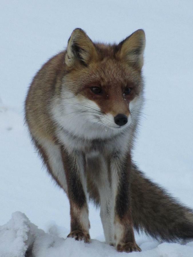
[(91, 39), (82, 29), (73, 30), (67, 45), (65, 63), (69, 68), (78, 64), (87, 66), (92, 59), (96, 59), (97, 52)]

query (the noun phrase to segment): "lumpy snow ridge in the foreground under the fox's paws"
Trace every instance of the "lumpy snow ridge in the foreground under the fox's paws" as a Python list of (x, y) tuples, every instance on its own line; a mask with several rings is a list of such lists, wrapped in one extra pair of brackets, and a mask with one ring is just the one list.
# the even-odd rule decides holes
[[(140, 245), (142, 252), (134, 252), (130, 256), (193, 256), (193, 242), (186, 245), (162, 243), (156, 248), (155, 246), (152, 242), (145, 242)], [(55, 232), (45, 233), (21, 212), (14, 212), (11, 220), (0, 226), (0, 257), (68, 257), (77, 256), (77, 253), (79, 257), (128, 256), (127, 253), (118, 253), (114, 247), (98, 240), (85, 244), (72, 238), (61, 238)]]

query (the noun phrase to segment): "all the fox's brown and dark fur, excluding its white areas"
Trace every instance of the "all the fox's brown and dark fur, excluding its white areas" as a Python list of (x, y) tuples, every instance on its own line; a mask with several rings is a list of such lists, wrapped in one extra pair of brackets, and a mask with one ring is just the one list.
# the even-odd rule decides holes
[[(75, 30), (69, 39), (67, 51), (52, 57), (35, 75), (26, 98), (25, 118), (33, 142), (49, 173), (62, 187), (59, 179), (51, 170), (46, 150), (40, 141), (57, 145), (61, 149), (71, 211), (69, 236), (76, 240), (84, 239), (85, 242), (90, 240), (89, 225), (87, 223), (86, 227), (86, 222), (84, 224), (84, 221), (80, 219), (83, 211), (85, 214), (88, 212), (86, 192), (81, 184), (78, 165), (73, 165), (74, 156), (69, 154), (57, 137), (58, 125), (51, 118), (51, 105), (54, 99), (60, 97), (62, 87), (65, 85), (65, 89), (77, 98), (85, 97), (95, 101), (105, 114), (116, 116), (122, 113), (129, 116), (130, 101), (143, 91), (141, 68), (145, 45), (144, 32), (138, 30), (133, 35), (119, 45), (105, 45), (93, 43), (82, 30)], [(91, 87), (102, 87), (103, 95), (94, 95), (90, 90)], [(132, 91), (131, 94), (123, 97), (126, 87), (131, 88)], [(136, 125), (133, 127), (133, 134), (135, 128)], [(99, 140), (93, 140), (93, 142), (95, 144), (105, 143)], [(88, 153), (95, 147), (96, 145), (86, 145), (85, 152)], [(130, 148), (132, 148), (132, 142)], [(130, 150), (126, 162), (122, 165), (120, 173), (122, 177), (119, 177), (116, 196), (115, 222), (123, 227), (123, 236), (117, 244), (117, 250), (120, 252), (140, 251), (134, 239), (133, 224), (137, 230), (144, 229), (152, 236), (161, 237), (164, 240), (192, 237), (192, 211), (180, 205), (156, 184), (144, 178), (143, 174), (133, 167)], [(84, 158), (82, 152), (75, 153), (81, 154)], [(112, 156), (108, 156), (107, 153), (105, 157), (108, 163), (108, 180), (111, 184)], [(100, 163), (93, 165), (93, 169), (97, 169), (98, 166)], [(84, 170), (86, 172), (87, 168), (84, 167)], [(100, 195), (96, 184), (93, 183), (94, 175), (86, 172), (85, 176), (87, 176), (89, 196), (99, 204)], [(156, 206), (156, 210), (152, 206)], [(174, 222), (171, 223), (171, 220)]]

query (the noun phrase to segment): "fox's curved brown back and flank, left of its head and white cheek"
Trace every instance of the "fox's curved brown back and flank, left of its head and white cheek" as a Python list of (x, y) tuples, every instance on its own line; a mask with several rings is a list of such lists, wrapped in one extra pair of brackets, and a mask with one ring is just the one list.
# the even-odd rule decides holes
[(25, 119), (32, 136), (54, 138), (55, 125), (51, 119), (50, 106), (65, 74), (64, 56), (65, 51), (49, 59), (37, 72), (29, 87), (25, 101)]

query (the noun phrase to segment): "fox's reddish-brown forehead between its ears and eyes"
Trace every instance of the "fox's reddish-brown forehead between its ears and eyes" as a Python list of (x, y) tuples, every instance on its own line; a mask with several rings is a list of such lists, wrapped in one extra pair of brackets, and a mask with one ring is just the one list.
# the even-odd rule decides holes
[(98, 62), (91, 62), (88, 67), (71, 71), (66, 76), (66, 82), (74, 85), (74, 89), (90, 83), (99, 83), (102, 87), (124, 87), (130, 84), (141, 84), (141, 74), (113, 58), (105, 57)]

